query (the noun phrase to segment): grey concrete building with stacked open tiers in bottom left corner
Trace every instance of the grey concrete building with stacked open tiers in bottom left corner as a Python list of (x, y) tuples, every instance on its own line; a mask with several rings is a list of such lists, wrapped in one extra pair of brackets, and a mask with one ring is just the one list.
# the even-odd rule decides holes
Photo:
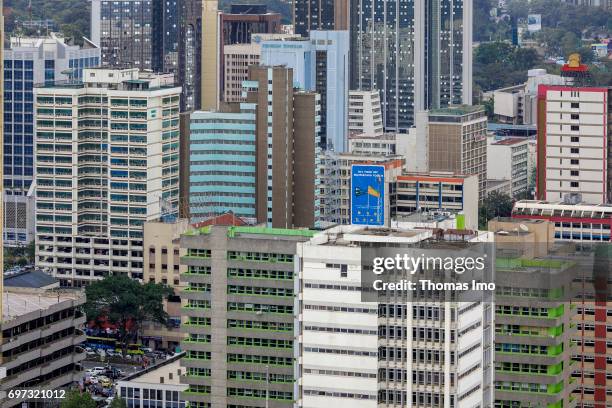
[(21, 407), (26, 402), (9, 398), (9, 390), (58, 390), (81, 380), (85, 334), (80, 327), (85, 324), (85, 315), (80, 308), (85, 297), (77, 292), (31, 288), (10, 288), (2, 297), (0, 328), (6, 377), (0, 379), (0, 405)]

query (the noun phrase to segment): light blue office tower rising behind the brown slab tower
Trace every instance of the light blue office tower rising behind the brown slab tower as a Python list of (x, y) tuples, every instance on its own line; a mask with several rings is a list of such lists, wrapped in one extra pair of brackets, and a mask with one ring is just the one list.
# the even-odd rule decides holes
[(293, 70), (293, 86), (321, 97), (322, 147), (347, 149), (349, 36), (346, 31), (310, 32), (309, 39), (264, 41), (262, 65)]

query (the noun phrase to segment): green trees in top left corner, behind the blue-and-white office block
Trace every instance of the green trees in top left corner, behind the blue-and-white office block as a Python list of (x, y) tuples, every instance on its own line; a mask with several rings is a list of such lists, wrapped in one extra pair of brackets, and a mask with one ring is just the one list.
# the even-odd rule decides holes
[[(91, 1), (88, 0), (31, 0), (31, 19), (55, 22), (59, 31), (81, 43), (82, 37), (90, 37)], [(19, 28), (18, 22), (29, 21), (30, 0), (4, 0), (5, 30), (24, 35), (37, 34), (36, 30)], [(42, 33), (44, 34), (44, 33)]]

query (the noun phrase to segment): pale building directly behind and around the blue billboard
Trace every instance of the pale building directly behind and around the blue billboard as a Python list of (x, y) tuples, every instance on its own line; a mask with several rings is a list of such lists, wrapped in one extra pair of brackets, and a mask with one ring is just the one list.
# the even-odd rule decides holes
[(392, 218), (391, 192), (402, 173), (405, 158), (397, 155), (334, 153), (323, 155), (321, 171), (321, 220), (329, 224), (351, 223), (351, 171), (355, 164), (385, 167), (385, 225)]

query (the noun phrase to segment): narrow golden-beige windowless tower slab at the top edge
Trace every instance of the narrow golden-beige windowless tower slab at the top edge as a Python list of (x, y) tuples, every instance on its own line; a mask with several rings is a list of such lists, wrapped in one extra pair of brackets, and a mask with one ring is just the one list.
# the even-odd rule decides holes
[(205, 111), (216, 110), (219, 107), (221, 93), (220, 46), (219, 37), (219, 1), (202, 0), (202, 54), (200, 106), (196, 109)]

